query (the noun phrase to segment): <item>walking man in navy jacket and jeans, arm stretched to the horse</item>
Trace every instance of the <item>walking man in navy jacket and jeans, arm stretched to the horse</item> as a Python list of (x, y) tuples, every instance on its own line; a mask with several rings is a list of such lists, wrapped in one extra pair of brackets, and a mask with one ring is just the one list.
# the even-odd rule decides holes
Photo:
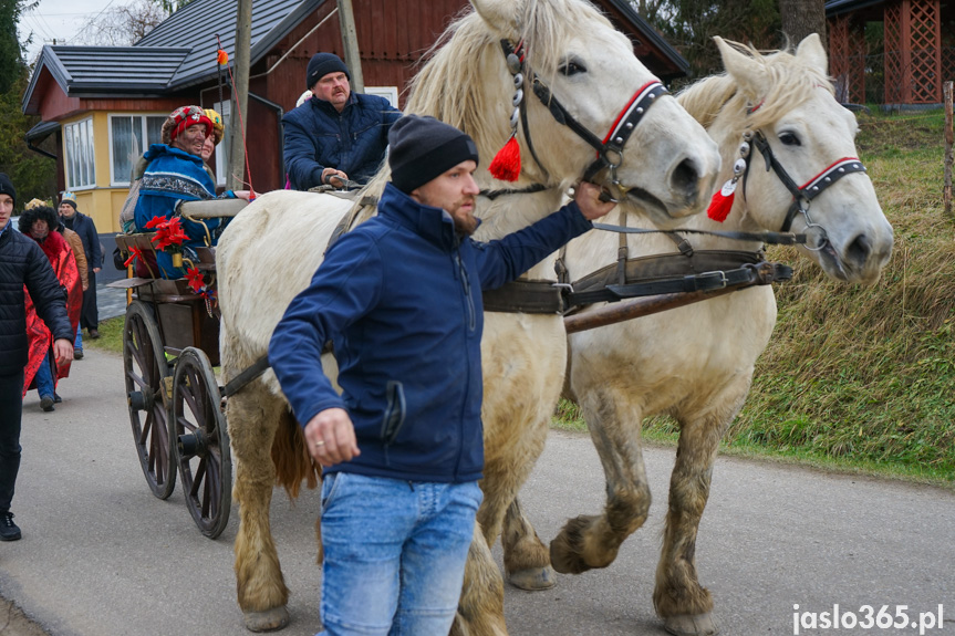
[[(406, 115), (378, 215), (329, 250), (269, 362), (322, 483), (323, 634), (445, 635), (481, 501), (481, 290), (516, 279), (612, 204), (591, 184), (501, 240), (469, 238), (470, 137)], [(332, 341), (340, 396), (321, 373)]]

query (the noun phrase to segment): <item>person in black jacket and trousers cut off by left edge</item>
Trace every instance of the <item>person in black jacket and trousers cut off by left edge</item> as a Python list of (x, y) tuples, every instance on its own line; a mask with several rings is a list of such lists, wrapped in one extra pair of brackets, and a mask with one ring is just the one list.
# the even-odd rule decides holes
[(27, 366), (27, 306), (23, 286), (38, 315), (55, 338), (59, 364), (73, 359), (73, 330), (66, 315), (66, 292), (40, 246), (13, 229), (10, 218), (17, 190), (0, 174), (0, 541), (20, 539), (10, 504), (20, 471), (20, 418), (23, 368)]

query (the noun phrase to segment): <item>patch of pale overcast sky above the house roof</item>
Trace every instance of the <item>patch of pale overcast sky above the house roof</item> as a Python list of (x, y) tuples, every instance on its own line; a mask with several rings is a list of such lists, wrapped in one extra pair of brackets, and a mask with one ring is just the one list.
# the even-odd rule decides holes
[(20, 41), (31, 32), (33, 42), (27, 49), (27, 61), (32, 62), (43, 44), (75, 44), (82, 30), (102, 11), (123, 6), (128, 0), (40, 0), (32, 11), (20, 17)]

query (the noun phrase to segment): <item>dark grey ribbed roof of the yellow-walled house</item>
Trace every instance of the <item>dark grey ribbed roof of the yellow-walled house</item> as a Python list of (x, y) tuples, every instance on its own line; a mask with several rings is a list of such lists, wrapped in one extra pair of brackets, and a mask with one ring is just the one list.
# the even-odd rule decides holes
[[(256, 0), (252, 3), (250, 63), (326, 0)], [(43, 46), (23, 94), (24, 113), (35, 113), (33, 92), (43, 69), (70, 97), (168, 95), (215, 80), (216, 51), (235, 59), (238, 0), (194, 0), (133, 46)]]

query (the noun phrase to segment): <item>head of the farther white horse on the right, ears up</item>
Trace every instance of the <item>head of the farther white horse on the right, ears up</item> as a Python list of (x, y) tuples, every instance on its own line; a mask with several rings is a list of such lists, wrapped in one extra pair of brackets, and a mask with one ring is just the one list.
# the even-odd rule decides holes
[(800, 251), (829, 277), (874, 283), (892, 252), (892, 226), (858, 158), (855, 116), (835, 101), (819, 37), (767, 55), (715, 40), (726, 75), (693, 86), (681, 103), (719, 142), (724, 178), (748, 153), (730, 216), (741, 227), (805, 232)]

